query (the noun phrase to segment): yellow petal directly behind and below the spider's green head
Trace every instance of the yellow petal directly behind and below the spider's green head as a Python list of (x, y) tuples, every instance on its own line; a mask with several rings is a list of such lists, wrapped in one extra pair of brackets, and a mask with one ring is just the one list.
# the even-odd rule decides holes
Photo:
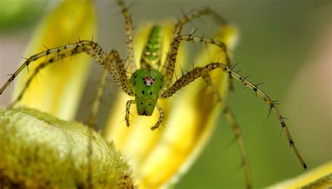
[[(144, 43), (148, 38), (151, 26), (151, 24), (146, 24), (144, 27), (139, 28), (136, 35), (137, 38), (134, 38), (136, 62), (139, 62), (141, 59), (141, 52), (143, 51)], [(167, 22), (162, 24), (165, 34), (163, 49), (168, 50), (169, 48), (171, 38), (170, 35), (172, 34), (171, 29), (173, 26), (174, 24)], [(165, 58), (165, 55), (163, 55), (162, 59)], [(125, 102), (130, 99), (131, 97), (123, 95), (123, 93), (117, 95), (115, 100), (116, 103), (113, 106), (112, 112), (109, 115), (108, 123), (106, 124), (104, 130), (104, 137), (108, 141), (113, 141), (115, 146), (128, 157), (134, 156), (134, 158), (131, 158), (131, 164), (135, 165), (134, 167), (139, 169), (141, 160), (146, 157), (151, 148), (153, 148), (155, 142), (160, 138), (160, 130), (152, 132), (150, 129), (157, 122), (159, 113), (158, 111), (154, 111), (152, 116), (138, 116), (135, 106), (133, 105), (132, 109), (130, 109), (130, 113), (132, 114), (132, 116), (130, 116), (130, 127), (126, 127), (125, 122), (123, 122), (123, 113), (125, 110)], [(159, 101), (158, 103), (160, 103), (162, 110), (167, 116), (168, 111), (166, 108), (167, 106), (165, 106), (165, 102)]]

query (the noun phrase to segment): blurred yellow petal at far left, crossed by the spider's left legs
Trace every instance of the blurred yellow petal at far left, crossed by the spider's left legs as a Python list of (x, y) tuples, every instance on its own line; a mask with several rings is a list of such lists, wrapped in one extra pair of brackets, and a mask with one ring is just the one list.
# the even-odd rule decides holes
[[(41, 22), (25, 55), (30, 57), (47, 50), (43, 45), (55, 48), (67, 45), (69, 41), (78, 41), (78, 38), (91, 39), (92, 36), (96, 37), (95, 33), (96, 15), (92, 1), (63, 1)], [(51, 56), (56, 54), (48, 55), (48, 58)], [(34, 78), (20, 104), (48, 112), (58, 118), (72, 119), (88, 76), (90, 59), (88, 55), (76, 55), (46, 66)], [(45, 60), (46, 57), (41, 57), (32, 62), (29, 65), (30, 74), (27, 74), (26, 70), (20, 73), (13, 99), (25, 86), (36, 66)]]

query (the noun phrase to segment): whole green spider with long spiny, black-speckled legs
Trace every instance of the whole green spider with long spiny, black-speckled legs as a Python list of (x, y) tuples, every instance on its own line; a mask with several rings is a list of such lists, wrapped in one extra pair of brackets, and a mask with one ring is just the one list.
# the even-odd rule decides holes
[[(244, 141), (240, 132), (240, 127), (237, 125), (233, 113), (231, 113), (227, 108), (226, 104), (224, 104), (223, 100), (221, 99), (221, 95), (219, 94), (219, 91), (212, 83), (211, 76), (209, 76), (210, 71), (220, 69), (221, 71), (228, 73), (231, 79), (233, 78), (235, 80), (239, 80), (245, 87), (249, 87), (251, 88), (251, 90), (254, 90), (254, 92), (256, 92), (256, 94), (258, 94), (258, 96), (261, 97), (266, 104), (268, 104), (268, 106), (270, 107), (270, 111), (275, 112), (279, 122), (282, 125), (282, 129), (284, 130), (286, 137), (289, 140), (290, 146), (296, 153), (296, 156), (298, 157), (298, 160), (300, 160), (301, 165), (306, 168), (306, 164), (303, 158), (300, 156), (300, 153), (298, 153), (298, 150), (293, 143), (293, 139), (291, 138), (291, 134), (289, 134), (289, 130), (286, 127), (284, 118), (281, 116), (279, 110), (275, 106), (275, 102), (272, 101), (272, 99), (270, 99), (270, 97), (268, 97), (265, 92), (258, 89), (257, 85), (254, 85), (245, 77), (240, 76), (237, 72), (233, 71), (234, 66), (231, 66), (230, 64), (230, 58), (228, 56), (226, 44), (222, 41), (216, 41), (212, 38), (196, 37), (193, 36), (193, 34), (181, 35), (181, 30), (187, 22), (190, 22), (194, 18), (199, 18), (202, 15), (213, 15), (214, 18), (216, 18), (217, 22), (219, 22), (219, 24), (226, 25), (227, 22), (223, 20), (223, 18), (221, 18), (219, 14), (217, 14), (216, 12), (214, 12), (214, 10), (210, 8), (203, 8), (201, 10), (197, 10), (193, 13), (186, 15), (184, 18), (181, 18), (179, 22), (177, 22), (177, 25), (175, 25), (172, 42), (170, 44), (170, 50), (167, 53), (167, 58), (165, 62), (162, 62), (160, 58), (160, 55), (162, 53), (160, 52), (162, 45), (161, 39), (163, 37), (162, 29), (158, 25), (153, 26), (148, 36), (148, 41), (146, 41), (144, 51), (141, 55), (141, 67), (137, 69), (134, 61), (134, 50), (132, 43), (133, 31), (130, 14), (127, 8), (124, 6), (123, 1), (117, 0), (116, 2), (118, 3), (118, 6), (120, 7), (125, 18), (125, 34), (128, 55), (127, 62), (129, 65), (129, 69), (134, 70), (134, 73), (132, 73), (130, 79), (128, 79), (127, 69), (124, 66), (123, 60), (120, 59), (120, 55), (118, 54), (117, 50), (111, 50), (111, 52), (106, 55), (106, 53), (104, 52), (104, 50), (102, 50), (99, 44), (94, 42), (93, 40), (80, 40), (77, 43), (73, 43), (70, 45), (62, 45), (57, 48), (50, 48), (46, 51), (39, 52), (38, 54), (32, 55), (31, 57), (27, 58), (26, 61), (20, 66), (20, 68), (16, 70), (15, 73), (13, 73), (11, 78), (6, 81), (3, 87), (1, 87), (0, 94), (4, 92), (6, 87), (8, 87), (11, 82), (13, 82), (15, 77), (18, 76), (18, 74), (23, 69), (25, 69), (25, 67), (29, 66), (29, 64), (36, 61), (37, 59), (50, 55), (50, 57), (46, 59), (45, 62), (42, 62), (41, 64), (39, 64), (39, 66), (37, 66), (32, 76), (29, 77), (29, 79), (27, 80), (27, 84), (18, 96), (18, 99), (16, 99), (15, 101), (18, 102), (20, 99), (22, 99), (22, 96), (25, 94), (25, 91), (29, 87), (29, 84), (32, 82), (34, 76), (36, 76), (36, 74), (39, 73), (39, 71), (45, 66), (48, 66), (53, 62), (57, 62), (60, 59), (64, 59), (65, 57), (71, 57), (78, 53), (85, 52), (92, 58), (94, 58), (96, 62), (104, 68), (101, 85), (97, 92), (95, 102), (92, 106), (89, 125), (95, 124), (95, 115), (99, 106), (101, 93), (104, 88), (104, 82), (106, 80), (107, 73), (109, 73), (116, 81), (120, 89), (123, 90), (123, 92), (125, 92), (131, 97), (134, 97), (134, 99), (129, 100), (125, 106), (126, 125), (128, 127), (130, 126), (130, 106), (132, 104), (136, 104), (137, 113), (139, 114), (139, 116), (151, 116), (154, 109), (158, 109), (160, 113), (159, 119), (157, 123), (155, 123), (155, 125), (151, 127), (151, 130), (155, 130), (160, 127), (160, 124), (162, 123), (162, 120), (164, 118), (164, 113), (162, 112), (162, 108), (158, 104), (158, 99), (172, 97), (173, 94), (175, 94), (184, 86), (193, 82), (193, 80), (202, 78), (203, 80), (205, 80), (206, 85), (210, 87), (210, 89), (216, 96), (219, 104), (221, 105), (221, 108), (223, 109), (223, 113), (226, 114), (226, 118), (233, 127), (237, 141), (240, 145), (242, 164), (244, 165), (244, 172), (247, 180), (247, 188), (250, 188), (251, 176), (249, 171), (249, 164), (247, 162), (247, 155), (244, 149)], [(210, 62), (205, 66), (195, 67), (191, 71), (188, 71), (188, 73), (185, 73), (183, 76), (181, 76), (181, 78), (178, 78), (175, 82), (173, 82), (174, 67), (175, 62), (177, 61), (177, 52), (179, 50), (179, 45), (182, 41), (192, 41), (193, 43), (199, 42), (216, 45), (221, 48), (221, 50), (223, 50), (226, 56), (226, 62)], [(231, 86), (232, 85), (230, 85), (230, 87)]]

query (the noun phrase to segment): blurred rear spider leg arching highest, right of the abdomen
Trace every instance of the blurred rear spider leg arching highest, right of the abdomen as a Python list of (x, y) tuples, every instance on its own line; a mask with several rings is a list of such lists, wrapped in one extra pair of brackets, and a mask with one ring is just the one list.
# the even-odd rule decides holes
[[(203, 8), (201, 10), (196, 10), (193, 13), (189, 13), (188, 15), (184, 16), (184, 18), (181, 18), (179, 20), (179, 22), (177, 22), (177, 25), (175, 25), (175, 27), (174, 27), (174, 34), (173, 34), (172, 42), (171, 42), (171, 45), (170, 45), (170, 50), (168, 51), (167, 55), (171, 55), (172, 54), (174, 43), (176, 43), (176, 38), (177, 38), (177, 36), (180, 35), (180, 33), (181, 33), (182, 28), (184, 27), (184, 25), (187, 22), (190, 22), (191, 20), (193, 20), (194, 18), (200, 18), (200, 16), (202, 16), (202, 15), (208, 15), (208, 14), (214, 15), (214, 17), (217, 19), (218, 22), (221, 23), (221, 25), (226, 25), (226, 20), (224, 20), (223, 18), (221, 18), (221, 15), (219, 15), (218, 13), (216, 13), (211, 8)], [(169, 67), (172, 67), (172, 64), (174, 64), (174, 62), (171, 61), (171, 58), (172, 57), (167, 57), (167, 59), (166, 59), (166, 62), (164, 64), (165, 69), (162, 69), (162, 75), (163, 76), (166, 76), (167, 74), (170, 74), (170, 73), (168, 73)], [(174, 69), (174, 66), (173, 66), (173, 69)], [(172, 76), (173, 76), (173, 74), (171, 74), (171, 76), (169, 76), (170, 80), (169, 80), (169, 82), (167, 81), (167, 84), (166, 84), (167, 88), (170, 87), (170, 85), (172, 85)]]

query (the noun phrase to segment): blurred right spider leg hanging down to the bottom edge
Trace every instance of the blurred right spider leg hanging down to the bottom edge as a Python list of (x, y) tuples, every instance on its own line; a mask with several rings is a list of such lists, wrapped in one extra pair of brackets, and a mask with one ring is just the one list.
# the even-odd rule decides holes
[(207, 85), (209, 85), (210, 89), (216, 96), (217, 102), (219, 102), (221, 109), (223, 110), (223, 113), (225, 113), (226, 120), (228, 121), (228, 123), (230, 123), (231, 129), (235, 133), (235, 139), (237, 139), (237, 144), (240, 148), (242, 166), (244, 167), (244, 175), (246, 178), (247, 188), (251, 188), (251, 186), (252, 186), (251, 170), (250, 170), (249, 161), (247, 158), (247, 151), (244, 146), (244, 139), (242, 137), (241, 127), (235, 120), (234, 114), (230, 111), (228, 106), (226, 106), (225, 102), (221, 98), (221, 95), (220, 95), (218, 89), (212, 83), (211, 76), (209, 76), (207, 69), (202, 68), (202, 69), (200, 69), (200, 72), (201, 72), (202, 78), (205, 80), (205, 83), (207, 83)]

